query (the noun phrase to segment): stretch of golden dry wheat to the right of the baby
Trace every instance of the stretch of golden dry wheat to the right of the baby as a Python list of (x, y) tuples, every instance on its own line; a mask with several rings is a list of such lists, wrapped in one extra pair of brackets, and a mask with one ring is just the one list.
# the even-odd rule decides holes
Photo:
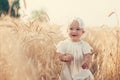
[(96, 80), (120, 80), (120, 27), (88, 29), (93, 47), (92, 71)]

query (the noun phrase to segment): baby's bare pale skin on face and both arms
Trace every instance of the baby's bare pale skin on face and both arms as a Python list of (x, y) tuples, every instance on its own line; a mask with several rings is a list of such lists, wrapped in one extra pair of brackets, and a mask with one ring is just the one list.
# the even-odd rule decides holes
[[(72, 42), (78, 42), (80, 41), (80, 37), (83, 35), (84, 30), (79, 27), (79, 23), (76, 20), (73, 20), (73, 22), (69, 25), (67, 32)], [(58, 56), (62, 62), (71, 62), (74, 60), (73, 55), (69, 53), (66, 53), (66, 54), (59, 53)], [(88, 69), (89, 64), (91, 62), (91, 54), (89, 53), (84, 54), (83, 57), (84, 57), (84, 60), (81, 66), (83, 69)]]

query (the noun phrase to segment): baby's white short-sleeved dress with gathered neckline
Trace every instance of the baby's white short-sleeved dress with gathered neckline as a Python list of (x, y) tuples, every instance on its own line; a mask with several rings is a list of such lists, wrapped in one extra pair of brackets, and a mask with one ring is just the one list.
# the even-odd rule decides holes
[[(65, 75), (66, 73), (70, 73), (70, 76), (72, 76), (73, 79), (76, 78), (77, 75), (81, 74), (81, 72), (84, 73), (85, 78), (92, 75), (88, 69), (83, 70), (81, 68), (81, 63), (83, 61), (83, 54), (91, 53), (91, 49), (92, 47), (83, 40), (80, 40), (79, 42), (72, 42), (71, 40), (66, 39), (64, 41), (59, 42), (57, 45), (57, 52), (61, 54), (66, 54), (66, 53), (72, 54), (74, 57), (74, 60), (69, 62), (69, 65), (68, 63), (64, 64), (64, 67), (66, 66), (67, 68), (69, 68), (67, 69), (68, 72), (65, 72), (66, 68), (63, 67), (63, 71)], [(77, 79), (74, 79), (74, 80), (77, 80)]]

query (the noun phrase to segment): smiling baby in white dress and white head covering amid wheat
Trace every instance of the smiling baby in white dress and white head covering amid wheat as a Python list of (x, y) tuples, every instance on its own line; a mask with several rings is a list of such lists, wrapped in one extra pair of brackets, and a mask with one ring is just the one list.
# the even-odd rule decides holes
[(57, 45), (59, 59), (64, 62), (60, 80), (93, 80), (89, 70), (92, 47), (81, 40), (84, 24), (80, 18), (75, 18), (67, 30), (69, 38)]

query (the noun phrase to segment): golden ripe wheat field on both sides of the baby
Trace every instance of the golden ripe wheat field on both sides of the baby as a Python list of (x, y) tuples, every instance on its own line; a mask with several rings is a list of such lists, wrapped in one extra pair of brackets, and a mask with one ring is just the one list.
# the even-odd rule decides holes
[[(56, 44), (60, 25), (0, 19), (0, 80), (58, 80)], [(83, 38), (93, 47), (95, 80), (120, 80), (120, 27), (88, 27)]]

